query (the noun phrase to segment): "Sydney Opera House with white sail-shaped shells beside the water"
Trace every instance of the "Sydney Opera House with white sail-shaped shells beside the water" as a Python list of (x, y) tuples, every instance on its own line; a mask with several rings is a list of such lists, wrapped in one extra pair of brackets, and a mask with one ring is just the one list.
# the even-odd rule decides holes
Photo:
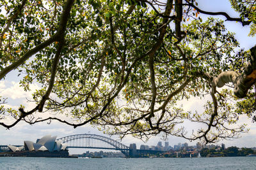
[(24, 141), (24, 146), (8, 145), (13, 156), (23, 157), (70, 157), (67, 144), (56, 141), (57, 136), (47, 135), (41, 139)]

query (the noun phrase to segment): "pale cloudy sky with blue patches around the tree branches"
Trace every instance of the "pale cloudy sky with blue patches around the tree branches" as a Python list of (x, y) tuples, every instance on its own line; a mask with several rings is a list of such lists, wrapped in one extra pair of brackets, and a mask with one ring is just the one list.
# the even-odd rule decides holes
[[(199, 8), (204, 8), (207, 11), (225, 11), (230, 14), (231, 17), (237, 17), (237, 13), (230, 8), (230, 3), (228, 0), (200, 0), (198, 1)], [(205, 18), (204, 15), (201, 14), (201, 17)], [(221, 17), (225, 19), (224, 17)], [(255, 38), (248, 37), (248, 33), (250, 31), (249, 27), (243, 27), (241, 24), (236, 22), (225, 22), (226, 27), (231, 32), (236, 32), (236, 38), (241, 43), (241, 47), (248, 50), (252, 46), (255, 45)], [(8, 97), (10, 102), (9, 106), (12, 108), (18, 108), (20, 104), (24, 104), (28, 107), (32, 107), (32, 103), (29, 103), (26, 97), (31, 95), (31, 92), (24, 92), (24, 90), (19, 87), (19, 80), (15, 76), (15, 73), (10, 73), (7, 75), (5, 80), (0, 81), (0, 96)], [(32, 91), (38, 89), (37, 85), (34, 84), (31, 86)], [(203, 99), (204, 100), (204, 99)], [(202, 110), (202, 100), (198, 98), (191, 98), (189, 101), (182, 101), (182, 106), (184, 110)], [(252, 120), (246, 117), (242, 117), (241, 122), (246, 122), (248, 127), (251, 129), (247, 134), (242, 134), (242, 138), (233, 139), (232, 141), (220, 141), (220, 143), (225, 143), (226, 146), (238, 146), (238, 147), (253, 147), (256, 146), (256, 124), (252, 124)], [(8, 120), (9, 121), (9, 120)], [(193, 127), (192, 127), (193, 128)], [(65, 124), (61, 124), (60, 122), (52, 122), (51, 124), (47, 124), (47, 122), (41, 122), (35, 125), (29, 125), (24, 122), (20, 122), (19, 124), (12, 127), (10, 130), (5, 129), (0, 126), (0, 145), (22, 145), (23, 141), (30, 140), (36, 141), (38, 138), (42, 138), (47, 134), (51, 134), (52, 136), (58, 136), (58, 138), (69, 136), (72, 134), (99, 134), (103, 136), (108, 136), (103, 134), (102, 132), (94, 129), (90, 125), (84, 125), (82, 127), (77, 127), (74, 129)], [(118, 136), (111, 136), (113, 139), (118, 139)], [(153, 136), (148, 140), (146, 145), (157, 145), (157, 142), (162, 139), (162, 136)], [(167, 141), (171, 146), (176, 145), (177, 143), (189, 143), (183, 138), (177, 138), (173, 136), (169, 136)], [(129, 146), (130, 143), (136, 143), (137, 148), (140, 147), (143, 141), (140, 139), (132, 138), (131, 136), (125, 137), (122, 141), (125, 145)], [(195, 145), (195, 142), (189, 143), (189, 145)], [(83, 153), (84, 150), (70, 150), (70, 153)]]

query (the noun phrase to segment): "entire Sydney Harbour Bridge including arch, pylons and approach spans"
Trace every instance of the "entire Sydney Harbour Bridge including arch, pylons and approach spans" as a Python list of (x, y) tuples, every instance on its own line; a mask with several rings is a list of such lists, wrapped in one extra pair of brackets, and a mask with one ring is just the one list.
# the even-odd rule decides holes
[[(119, 150), (125, 157), (140, 157), (143, 155), (154, 155), (161, 153), (159, 150), (137, 150), (135, 144), (126, 146), (115, 139), (97, 134), (74, 134), (56, 139), (61, 143), (67, 143), (67, 148), (93, 148), (102, 150)], [(18, 145), (17, 145), (18, 146)], [(7, 148), (6, 145), (0, 145), (0, 150)]]

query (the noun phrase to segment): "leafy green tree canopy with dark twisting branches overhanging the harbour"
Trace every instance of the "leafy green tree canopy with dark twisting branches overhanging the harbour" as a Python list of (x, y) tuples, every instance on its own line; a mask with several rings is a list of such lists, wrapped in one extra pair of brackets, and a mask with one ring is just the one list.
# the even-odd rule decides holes
[[(246, 132), (239, 115), (255, 111), (256, 46), (239, 50), (224, 22), (252, 25), (255, 1), (232, 0), (241, 15), (198, 8), (194, 0), (0, 1), (0, 78), (19, 72), (20, 85), (38, 89), (35, 108), (6, 107), (1, 125), (58, 120), (74, 127), (100, 125), (104, 132), (138, 138), (164, 132), (213, 143)], [(228, 85), (220, 91), (219, 87)], [(232, 91), (234, 89), (234, 94)], [(211, 96), (203, 113), (177, 104)], [(230, 100), (235, 103), (230, 102)], [(72, 117), (40, 118), (52, 111)], [(13, 117), (12, 124), (4, 118)], [(186, 133), (182, 122), (202, 124)]]

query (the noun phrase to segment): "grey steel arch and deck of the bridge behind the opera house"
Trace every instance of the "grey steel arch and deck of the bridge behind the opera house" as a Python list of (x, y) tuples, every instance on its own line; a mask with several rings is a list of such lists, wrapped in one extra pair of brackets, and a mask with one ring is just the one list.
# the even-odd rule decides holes
[(102, 141), (104, 143), (108, 143), (109, 145), (113, 146), (113, 148), (102, 148), (102, 147), (94, 147), (94, 146), (67, 146), (68, 148), (101, 148), (101, 149), (115, 149), (120, 150), (120, 152), (124, 153), (126, 157), (129, 157), (129, 146), (126, 146), (114, 139), (108, 138), (106, 136), (100, 136), (97, 134), (74, 134), (70, 136), (65, 136), (63, 138), (56, 139), (57, 141), (61, 141), (61, 143), (68, 143), (68, 141), (74, 141), (78, 139), (96, 139)]

